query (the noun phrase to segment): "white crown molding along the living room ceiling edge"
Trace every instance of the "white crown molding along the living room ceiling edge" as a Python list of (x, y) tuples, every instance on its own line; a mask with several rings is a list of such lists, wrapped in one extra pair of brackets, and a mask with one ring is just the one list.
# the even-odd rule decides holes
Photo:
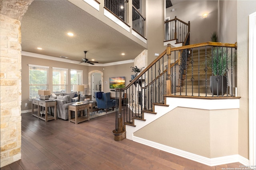
[(65, 62), (65, 63), (73, 63), (73, 64), (79, 64), (79, 65), (85, 65), (85, 66), (114, 66), (118, 64), (127, 64), (127, 63), (134, 63), (134, 60), (125, 60), (125, 61), (117, 61), (117, 62), (112, 62), (112, 63), (104, 63), (104, 64), (88, 64), (88, 63), (80, 63), (79, 61), (74, 61), (74, 60), (69, 60), (69, 59), (62, 59), (58, 57), (52, 57), (49, 55), (42, 55), (42, 54), (37, 54), (37, 53), (30, 53), (27, 51), (21, 51), (21, 55), (28, 56), (28, 57), (35, 57), (35, 58), (40, 58), (40, 59), (46, 59), (46, 60), (53, 60), (53, 61), (60, 61), (60, 62)]

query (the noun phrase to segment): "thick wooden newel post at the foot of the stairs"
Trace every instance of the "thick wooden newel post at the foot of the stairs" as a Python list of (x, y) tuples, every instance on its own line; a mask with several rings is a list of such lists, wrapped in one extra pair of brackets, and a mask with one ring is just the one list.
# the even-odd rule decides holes
[(118, 100), (116, 102), (118, 102), (118, 109), (116, 108), (116, 129), (114, 129), (112, 133), (114, 134), (115, 141), (122, 141), (125, 139), (126, 133), (122, 119), (122, 91), (118, 90), (117, 95), (116, 99)]

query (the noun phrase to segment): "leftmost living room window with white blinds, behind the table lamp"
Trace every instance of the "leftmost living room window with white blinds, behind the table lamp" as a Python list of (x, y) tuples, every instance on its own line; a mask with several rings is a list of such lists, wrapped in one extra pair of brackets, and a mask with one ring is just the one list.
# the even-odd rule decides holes
[(49, 89), (49, 67), (48, 66), (29, 66), (29, 98), (39, 97), (38, 90)]

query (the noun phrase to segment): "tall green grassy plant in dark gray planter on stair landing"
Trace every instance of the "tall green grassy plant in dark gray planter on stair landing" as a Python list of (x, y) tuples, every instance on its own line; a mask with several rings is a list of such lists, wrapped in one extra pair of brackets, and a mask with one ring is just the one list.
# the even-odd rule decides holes
[(226, 74), (228, 73), (228, 69), (231, 68), (231, 62), (231, 55), (228, 53), (228, 51), (226, 51), (226, 49), (223, 49), (222, 47), (213, 47), (212, 53), (207, 56), (206, 65), (212, 68), (212, 73), (214, 75), (210, 76), (210, 89), (213, 95), (221, 95), (222, 93), (226, 93)]

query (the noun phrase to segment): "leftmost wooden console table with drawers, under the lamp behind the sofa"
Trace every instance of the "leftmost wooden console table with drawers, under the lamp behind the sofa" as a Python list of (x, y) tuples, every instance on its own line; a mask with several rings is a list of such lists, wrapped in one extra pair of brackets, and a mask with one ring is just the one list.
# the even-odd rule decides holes
[[(34, 106), (38, 106), (37, 113), (34, 113)], [(44, 121), (48, 120), (56, 120), (57, 119), (57, 101), (56, 100), (41, 100), (41, 99), (33, 99), (32, 100), (32, 115), (37, 117), (38, 119), (42, 119)], [(41, 107), (45, 107), (44, 116), (40, 115)], [(48, 115), (48, 107), (54, 107), (54, 116)]]

